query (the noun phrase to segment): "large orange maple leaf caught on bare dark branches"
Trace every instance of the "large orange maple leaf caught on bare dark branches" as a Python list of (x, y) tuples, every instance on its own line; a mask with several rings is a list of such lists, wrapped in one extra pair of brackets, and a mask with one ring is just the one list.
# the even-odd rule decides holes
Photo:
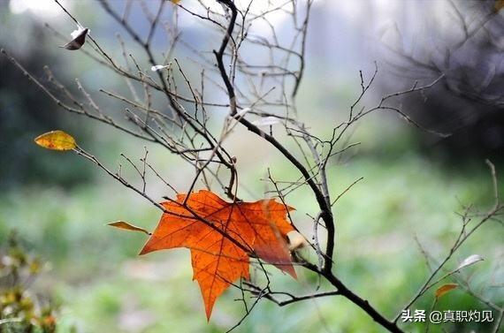
[[(184, 202), (185, 205), (184, 205)], [(165, 212), (140, 254), (174, 247), (191, 249), (193, 279), (202, 291), (207, 319), (233, 281), (248, 279), (249, 258), (257, 256), (296, 277), (286, 234), (286, 207), (274, 200), (226, 202), (210, 191), (179, 194), (163, 203)]]

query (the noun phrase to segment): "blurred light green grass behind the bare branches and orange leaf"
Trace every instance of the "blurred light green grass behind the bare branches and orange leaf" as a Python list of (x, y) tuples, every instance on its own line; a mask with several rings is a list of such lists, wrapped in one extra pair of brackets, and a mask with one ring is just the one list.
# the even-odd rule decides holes
[[(357, 133), (356, 139), (365, 140), (372, 131), (370, 126), (367, 134)], [(354, 158), (335, 163), (329, 171), (333, 193), (340, 193), (356, 178), (364, 177), (335, 208), (335, 269), (351, 288), (392, 316), (427, 274), (414, 235), (435, 258), (441, 258), (461, 225), (454, 211), (461, 202), (488, 207), (491, 179), (483, 162), (454, 171), (397, 147), (392, 155), (393, 150), (377, 153), (370, 144), (360, 149)], [(295, 176), (290, 170), (284, 172), (281, 165), (275, 164), (273, 171), (285, 178)], [(146, 240), (143, 235), (104, 225), (123, 219), (152, 230), (159, 218), (157, 208), (103, 174), (97, 179), (96, 184), (69, 192), (57, 187), (21, 187), (2, 194), (0, 201), (2, 241), (11, 229), (17, 229), (32, 251), (50, 261), (45, 278), (35, 287), (56, 295), (61, 302), (60, 331), (75, 326), (82, 332), (217, 332), (233, 326), (244, 313), (241, 302), (233, 300), (240, 297), (239, 291), (226, 291), (207, 323), (199, 288), (191, 282), (186, 250), (138, 257)], [(254, 182), (260, 183), (251, 178), (250, 183)], [(310, 193), (300, 190), (288, 201), (297, 208), (294, 221), (309, 234), (311, 224), (305, 213), (317, 213)], [(462, 246), (448, 268), (456, 267), (467, 255), (480, 254), (487, 260), (466, 273), (474, 274), (477, 283), (487, 283), (502, 251), (500, 232), (495, 232), (499, 228), (493, 222), (484, 226)], [(315, 259), (313, 254), (309, 257)], [(299, 294), (313, 291), (317, 284), (316, 276), (304, 273), (297, 282), (274, 273), (273, 281), (276, 288)], [(415, 308), (428, 309), (431, 302), (429, 294)], [(439, 307), (474, 309), (480, 305), (462, 291), (452, 291)], [(325, 328), (332, 332), (380, 331), (362, 311), (340, 298), (282, 308), (264, 300), (238, 331)]]

